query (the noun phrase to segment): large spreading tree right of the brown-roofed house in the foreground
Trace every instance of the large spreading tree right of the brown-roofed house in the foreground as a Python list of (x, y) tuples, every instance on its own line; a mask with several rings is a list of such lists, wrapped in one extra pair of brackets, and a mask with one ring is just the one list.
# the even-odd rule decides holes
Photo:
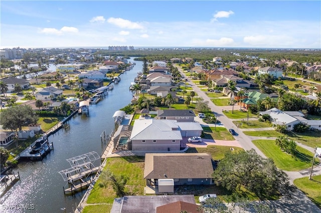
[(278, 169), (272, 159), (263, 158), (254, 149), (225, 153), (213, 177), (218, 185), (228, 190), (244, 187), (261, 199), (288, 195), (293, 190), (287, 174)]

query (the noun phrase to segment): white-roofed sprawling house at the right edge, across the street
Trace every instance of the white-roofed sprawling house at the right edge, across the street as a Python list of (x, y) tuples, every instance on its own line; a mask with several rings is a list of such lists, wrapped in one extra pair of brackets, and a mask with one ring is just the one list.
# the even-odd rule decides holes
[(321, 130), (321, 120), (308, 120), (304, 118), (301, 111), (282, 111), (278, 108), (271, 108), (266, 111), (259, 111), (260, 115), (268, 114), (271, 117), (271, 122), (275, 125), (286, 125), (288, 130), (292, 130), (297, 123), (305, 123), (310, 126), (310, 129)]

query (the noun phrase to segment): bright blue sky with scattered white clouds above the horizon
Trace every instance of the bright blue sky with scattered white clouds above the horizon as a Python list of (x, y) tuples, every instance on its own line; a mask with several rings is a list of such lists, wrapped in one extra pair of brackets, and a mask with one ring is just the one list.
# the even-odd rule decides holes
[(4, 47), (321, 48), (321, 1), (7, 1)]

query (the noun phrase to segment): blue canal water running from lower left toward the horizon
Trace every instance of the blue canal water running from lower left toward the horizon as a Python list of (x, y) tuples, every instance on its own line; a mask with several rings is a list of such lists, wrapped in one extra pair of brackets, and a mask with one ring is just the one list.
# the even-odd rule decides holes
[[(133, 62), (133, 58), (129, 61)], [(106, 144), (101, 143), (100, 134), (103, 130), (110, 133), (114, 129), (112, 115), (132, 99), (130, 82), (142, 69), (142, 61), (135, 62), (131, 70), (120, 75), (121, 80), (114, 84), (108, 96), (90, 105), (88, 117), (76, 114), (69, 120), (69, 129), (61, 129), (49, 136), (54, 150), (42, 161), (18, 164), (15, 171), (19, 171), (21, 180), (0, 199), (1, 212), (72, 212), (76, 209), (84, 191), (64, 195), (66, 182), (58, 172), (70, 167), (68, 158), (90, 151), (102, 153)], [(94, 164), (99, 164), (98, 161)]]

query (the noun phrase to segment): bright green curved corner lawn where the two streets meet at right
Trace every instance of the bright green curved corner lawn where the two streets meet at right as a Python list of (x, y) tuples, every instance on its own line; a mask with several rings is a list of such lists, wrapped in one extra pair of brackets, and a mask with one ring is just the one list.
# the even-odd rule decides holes
[[(252, 142), (265, 154), (272, 158), (275, 165), (286, 171), (299, 171), (311, 166), (313, 154), (300, 147), (296, 146), (297, 154), (292, 156), (282, 151), (275, 145), (275, 140), (252, 140)], [(317, 164), (316, 162), (315, 164)]]

